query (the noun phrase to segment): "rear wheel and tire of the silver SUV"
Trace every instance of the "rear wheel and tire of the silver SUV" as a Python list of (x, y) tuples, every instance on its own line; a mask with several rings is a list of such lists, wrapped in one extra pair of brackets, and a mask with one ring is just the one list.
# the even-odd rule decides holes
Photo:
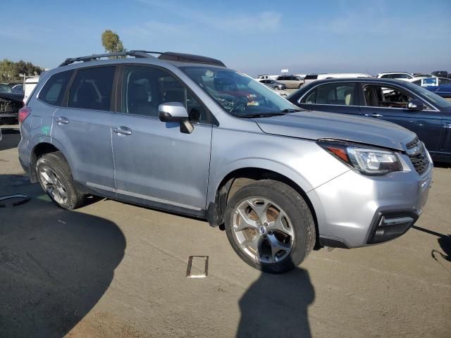
[(85, 201), (85, 195), (75, 187), (69, 164), (61, 151), (39, 158), (36, 173), (44, 192), (61, 208), (73, 210)]

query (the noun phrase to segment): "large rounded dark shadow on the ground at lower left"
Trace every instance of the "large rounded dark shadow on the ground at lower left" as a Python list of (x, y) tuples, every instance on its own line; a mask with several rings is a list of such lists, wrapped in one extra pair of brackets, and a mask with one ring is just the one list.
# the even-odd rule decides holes
[(109, 220), (58, 208), (19, 175), (0, 175), (0, 192), (31, 197), (0, 208), (0, 337), (63, 337), (109, 288), (125, 237)]

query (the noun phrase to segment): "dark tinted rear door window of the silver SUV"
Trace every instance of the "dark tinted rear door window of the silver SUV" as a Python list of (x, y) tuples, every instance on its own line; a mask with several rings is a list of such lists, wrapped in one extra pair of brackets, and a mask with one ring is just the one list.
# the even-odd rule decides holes
[(109, 111), (116, 67), (78, 70), (70, 87), (68, 107)]

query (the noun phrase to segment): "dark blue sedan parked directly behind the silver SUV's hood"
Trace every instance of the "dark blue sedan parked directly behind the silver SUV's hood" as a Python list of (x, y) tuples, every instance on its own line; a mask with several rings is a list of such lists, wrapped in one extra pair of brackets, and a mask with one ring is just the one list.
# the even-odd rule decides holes
[(401, 80), (328, 79), (288, 96), (300, 108), (388, 120), (415, 132), (435, 161), (451, 162), (451, 102)]

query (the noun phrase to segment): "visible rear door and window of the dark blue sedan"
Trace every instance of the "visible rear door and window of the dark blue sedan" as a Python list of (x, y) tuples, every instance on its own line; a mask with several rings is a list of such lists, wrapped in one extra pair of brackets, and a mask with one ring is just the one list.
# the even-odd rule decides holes
[(297, 100), (297, 106), (311, 111), (359, 115), (355, 82), (333, 82), (314, 87)]

